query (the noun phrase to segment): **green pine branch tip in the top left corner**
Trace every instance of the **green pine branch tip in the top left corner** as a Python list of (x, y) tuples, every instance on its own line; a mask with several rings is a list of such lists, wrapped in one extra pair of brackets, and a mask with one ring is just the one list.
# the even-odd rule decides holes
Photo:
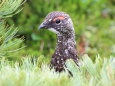
[(22, 8), (19, 8), (25, 0), (2, 0), (0, 3), (0, 19), (12, 17), (19, 13)]

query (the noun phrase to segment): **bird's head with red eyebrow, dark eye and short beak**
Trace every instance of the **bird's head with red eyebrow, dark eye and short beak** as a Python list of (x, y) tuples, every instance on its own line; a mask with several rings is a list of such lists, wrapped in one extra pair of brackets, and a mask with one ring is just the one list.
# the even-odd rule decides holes
[(39, 29), (48, 29), (56, 34), (70, 34), (74, 31), (73, 23), (68, 14), (65, 12), (54, 11), (49, 13)]

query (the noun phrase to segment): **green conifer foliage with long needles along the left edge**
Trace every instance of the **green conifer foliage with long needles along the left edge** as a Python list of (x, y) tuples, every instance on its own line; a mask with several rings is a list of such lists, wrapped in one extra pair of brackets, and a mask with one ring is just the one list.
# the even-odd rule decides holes
[(19, 7), (23, 3), (23, 0), (0, 1), (0, 57), (14, 56), (14, 52), (22, 48), (20, 46), (23, 40), (15, 37), (18, 31), (17, 27), (8, 26), (5, 19), (20, 12), (22, 8)]

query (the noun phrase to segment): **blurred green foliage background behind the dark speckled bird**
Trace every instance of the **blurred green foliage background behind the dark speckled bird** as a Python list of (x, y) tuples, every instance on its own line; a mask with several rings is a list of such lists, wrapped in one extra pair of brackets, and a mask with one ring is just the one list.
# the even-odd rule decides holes
[(51, 58), (56, 35), (48, 30), (38, 31), (38, 27), (52, 11), (71, 16), (79, 56), (115, 56), (115, 0), (27, 0), (20, 13), (7, 18), (9, 25), (19, 27), (18, 37), (24, 37), (26, 47), (20, 55)]

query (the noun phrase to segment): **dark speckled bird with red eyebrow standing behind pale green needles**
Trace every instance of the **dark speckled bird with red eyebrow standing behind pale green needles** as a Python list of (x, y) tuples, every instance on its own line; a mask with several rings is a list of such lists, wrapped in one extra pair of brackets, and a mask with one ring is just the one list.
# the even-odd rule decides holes
[(78, 65), (75, 31), (69, 14), (63, 11), (50, 12), (38, 29), (47, 29), (57, 35), (56, 49), (51, 58), (51, 67), (55, 71), (64, 71), (68, 59), (72, 59)]

